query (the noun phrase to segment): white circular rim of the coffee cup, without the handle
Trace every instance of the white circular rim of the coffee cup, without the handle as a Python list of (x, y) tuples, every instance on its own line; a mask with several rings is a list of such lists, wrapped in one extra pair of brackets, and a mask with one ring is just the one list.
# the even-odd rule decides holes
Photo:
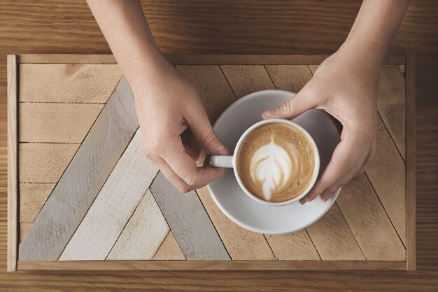
[[(312, 177), (311, 183), (309, 183), (309, 186), (307, 186), (307, 188), (301, 194), (297, 195), (297, 197), (293, 197), (292, 199), (287, 200), (287, 201), (283, 201), (283, 202), (268, 202), (268, 201), (260, 199), (260, 197), (253, 195), (253, 193), (251, 193), (246, 188), (246, 186), (243, 184), (243, 182), (241, 181), (239, 172), (237, 171), (237, 154), (239, 153), (239, 148), (242, 144), (243, 139), (245, 139), (245, 137), (248, 136), (248, 134), (250, 132), (252, 132), (253, 130), (255, 130), (257, 127), (260, 127), (262, 125), (266, 125), (269, 123), (285, 123), (288, 125), (292, 125), (292, 127), (296, 127), (298, 130), (301, 130), (306, 135), (307, 139), (309, 139), (309, 141), (311, 142), (311, 144), (313, 146), (313, 150), (315, 151), (315, 167), (313, 170), (313, 177)], [(243, 132), (243, 134), (239, 138), (239, 141), (237, 141), (236, 147), (234, 148), (233, 171), (234, 171), (234, 176), (236, 176), (237, 183), (239, 183), (239, 186), (242, 188), (243, 192), (246, 193), (246, 195), (248, 195), (248, 197), (255, 200), (256, 202), (260, 202), (262, 204), (267, 204), (269, 206), (280, 207), (280, 206), (285, 206), (287, 204), (292, 204), (293, 202), (297, 202), (302, 197), (307, 195), (309, 193), (309, 191), (315, 185), (316, 179), (318, 179), (319, 168), (320, 168), (320, 156), (319, 156), (318, 146), (316, 146), (316, 143), (313, 140), (313, 137), (311, 137), (311, 134), (309, 134), (309, 132), (307, 132), (304, 129), (304, 127), (298, 125), (297, 123), (292, 122), (292, 120), (286, 120), (286, 119), (282, 119), (282, 118), (272, 118), (272, 119), (268, 119), (268, 120), (261, 120), (260, 122), (257, 122), (254, 125), (251, 125), (250, 127), (248, 127), (248, 129), (246, 129), (245, 132)]]

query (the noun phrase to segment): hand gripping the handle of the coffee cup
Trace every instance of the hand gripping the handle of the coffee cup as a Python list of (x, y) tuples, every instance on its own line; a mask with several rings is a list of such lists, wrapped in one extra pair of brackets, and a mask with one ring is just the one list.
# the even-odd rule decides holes
[(146, 157), (183, 193), (219, 179), (225, 169), (196, 164), (202, 148), (210, 155), (229, 151), (213, 131), (195, 85), (167, 62), (140, 78), (133, 92)]

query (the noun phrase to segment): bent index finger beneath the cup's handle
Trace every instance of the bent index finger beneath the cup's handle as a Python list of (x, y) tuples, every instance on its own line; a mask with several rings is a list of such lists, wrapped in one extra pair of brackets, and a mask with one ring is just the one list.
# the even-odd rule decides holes
[(189, 186), (205, 186), (207, 183), (219, 179), (225, 169), (203, 166), (197, 167), (188, 153), (185, 153), (181, 137), (177, 136), (169, 141), (169, 146), (160, 153), (171, 169)]

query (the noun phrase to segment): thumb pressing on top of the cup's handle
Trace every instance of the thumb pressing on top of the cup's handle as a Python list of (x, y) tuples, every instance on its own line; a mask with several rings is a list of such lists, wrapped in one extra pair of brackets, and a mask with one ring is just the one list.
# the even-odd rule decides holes
[(196, 139), (202, 147), (211, 155), (228, 155), (227, 147), (220, 141), (206, 113), (192, 117), (192, 125), (189, 125)]

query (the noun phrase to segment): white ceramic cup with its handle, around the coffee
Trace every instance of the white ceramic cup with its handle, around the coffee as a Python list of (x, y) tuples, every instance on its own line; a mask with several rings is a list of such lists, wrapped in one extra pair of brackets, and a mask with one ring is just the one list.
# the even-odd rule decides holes
[[(315, 167), (313, 168), (313, 177), (312, 177), (312, 181), (309, 184), (309, 186), (297, 197), (293, 197), (290, 200), (287, 201), (283, 201), (283, 202), (268, 202), (265, 200), (260, 199), (259, 197), (256, 197), (255, 195), (253, 195), (252, 193), (250, 193), (250, 191), (243, 185), (241, 178), (240, 178), (240, 174), (237, 171), (237, 153), (239, 151), (239, 148), (243, 142), (243, 139), (245, 139), (245, 137), (252, 132), (255, 128), (260, 127), (261, 125), (266, 125), (269, 123), (285, 123), (288, 125), (291, 125), (292, 127), (296, 127), (298, 130), (300, 130), (302, 133), (304, 133), (306, 135), (306, 137), (309, 139), (311, 145), (313, 146), (313, 151), (315, 153)], [(269, 206), (284, 206), (286, 204), (291, 204), (293, 202), (297, 202), (297, 200), (301, 199), (302, 197), (304, 197), (305, 195), (307, 195), (307, 193), (309, 193), (309, 191), (311, 190), (311, 188), (313, 188), (313, 185), (315, 184), (316, 179), (318, 178), (318, 172), (319, 172), (319, 166), (320, 166), (320, 158), (319, 158), (319, 152), (318, 152), (318, 147), (315, 144), (315, 141), (313, 141), (313, 138), (311, 137), (311, 135), (309, 134), (309, 132), (307, 132), (306, 130), (304, 130), (303, 127), (301, 127), (300, 125), (297, 125), (296, 123), (293, 123), (290, 120), (283, 120), (283, 119), (270, 119), (270, 120), (262, 120), (258, 123), (255, 123), (254, 125), (252, 125), (251, 127), (248, 128), (248, 130), (246, 130), (241, 137), (239, 138), (239, 141), (237, 141), (236, 144), (236, 148), (234, 148), (234, 154), (233, 155), (212, 155), (210, 157), (210, 165), (213, 167), (224, 167), (224, 168), (232, 168), (234, 169), (234, 175), (236, 176), (236, 180), (239, 183), (239, 186), (241, 187), (241, 189), (246, 193), (246, 195), (248, 195), (251, 199), (260, 202), (262, 204), (267, 204)]]

